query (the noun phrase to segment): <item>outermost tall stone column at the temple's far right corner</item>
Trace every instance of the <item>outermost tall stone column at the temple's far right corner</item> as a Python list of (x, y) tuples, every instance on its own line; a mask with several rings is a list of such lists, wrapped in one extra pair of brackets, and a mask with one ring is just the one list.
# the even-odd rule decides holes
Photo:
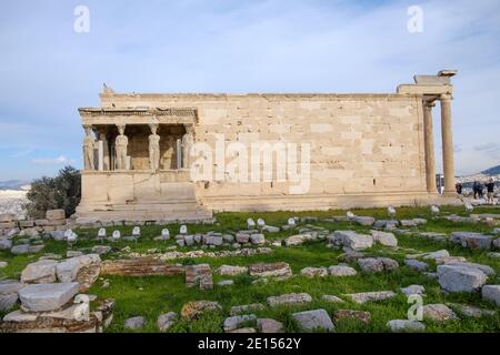
[(444, 193), (454, 193), (453, 132), (451, 129), (451, 95), (443, 94), (441, 100), (442, 170)]

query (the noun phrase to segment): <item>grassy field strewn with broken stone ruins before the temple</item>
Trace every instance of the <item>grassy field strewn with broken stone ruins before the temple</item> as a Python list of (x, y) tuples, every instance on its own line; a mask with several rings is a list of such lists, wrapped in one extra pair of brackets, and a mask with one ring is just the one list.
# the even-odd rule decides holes
[[(223, 213), (216, 215), (214, 224), (187, 224), (187, 234), (179, 237), (179, 224), (140, 225), (137, 242), (127, 237), (134, 225), (106, 226), (107, 239), (120, 231), (114, 242), (97, 240), (98, 226), (73, 230), (78, 239), (71, 246), (63, 232), (2, 236), (3, 245), (10, 246), (0, 250), (3, 305), (6, 285), (26, 286), (19, 280), (49, 285), (76, 281), (80, 293), (97, 297), (90, 297), (90, 321), (79, 323), (70, 315), (62, 316), (68, 323), (50, 323), (47, 312), (26, 310), (24, 295), (26, 304), (17, 301), (0, 316), (21, 306), (23, 316), (36, 315), (32, 324), (19, 322), (17, 313), (18, 322), (3, 318), (0, 332), (22, 326), (48, 329), (56, 324), (68, 331), (102, 327), (110, 333), (160, 332), (160, 327), (173, 333), (390, 332), (388, 322), (408, 320), (407, 294), (422, 294), (423, 321), (392, 322), (392, 331), (500, 332), (500, 286), (488, 286), (500, 284), (500, 209), (477, 206), (466, 212), (463, 206), (448, 206), (432, 214), (429, 207), (401, 207), (394, 216), (384, 209), (353, 210), (357, 217), (351, 219), (346, 212)], [(287, 226), (293, 216), (296, 226)], [(256, 222), (261, 217), (280, 230), (264, 227), (261, 233), (256, 225), (254, 232), (244, 232), (249, 217)], [(159, 239), (163, 229), (170, 232), (168, 240)], [(16, 245), (44, 247), (31, 250), (34, 254), (12, 254)], [(64, 262), (82, 254), (99, 256), (89, 256), (76, 270)], [(54, 262), (27, 270), (40, 257)], [(10, 291), (11, 301), (16, 292)], [(104, 300), (114, 300), (111, 311), (102, 311)], [(197, 301), (217, 303), (188, 304)], [(231, 310), (241, 305), (253, 306)], [(101, 312), (101, 318), (104, 314), (109, 326), (99, 316), (94, 320), (93, 311)], [(86, 322), (91, 321), (88, 327)]]

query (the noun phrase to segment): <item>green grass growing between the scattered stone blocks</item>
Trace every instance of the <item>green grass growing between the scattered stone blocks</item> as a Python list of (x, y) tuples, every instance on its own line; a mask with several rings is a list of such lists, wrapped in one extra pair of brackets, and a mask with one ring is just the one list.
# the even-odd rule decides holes
[[(377, 219), (387, 219), (386, 210), (356, 210), (358, 215), (372, 215)], [(283, 225), (290, 216), (317, 216), (331, 217), (334, 215), (344, 215), (346, 211), (322, 211), (322, 212), (271, 212), (271, 213), (222, 213), (217, 215), (218, 223), (214, 225), (196, 225), (189, 224), (189, 233), (204, 233), (208, 231), (228, 232), (239, 231), (246, 229), (248, 217), (263, 217), (269, 225)], [(494, 207), (477, 207), (474, 213), (500, 213), (500, 210)], [(441, 215), (458, 214), (467, 215), (462, 207), (447, 206), (441, 209)], [(426, 287), (424, 303), (462, 303), (474, 305), (483, 308), (496, 310), (494, 316), (484, 316), (481, 318), (462, 317), (460, 321), (432, 323), (426, 321), (427, 332), (500, 332), (500, 308), (492, 303), (481, 300), (479, 294), (444, 294), (440, 291), (439, 284), (436, 280), (430, 280), (421, 273), (413, 271), (402, 264), (404, 255), (409, 253), (404, 248), (414, 248), (418, 252), (430, 252), (441, 248), (447, 248), (451, 255), (461, 255), (467, 257), (470, 262), (486, 264), (493, 267), (497, 274), (500, 274), (500, 261), (488, 256), (487, 251), (471, 251), (462, 248), (459, 245), (448, 242), (434, 242), (416, 236), (418, 232), (441, 232), (451, 233), (453, 231), (469, 231), (490, 233), (491, 226), (483, 223), (467, 224), (453, 223), (443, 219), (436, 219), (429, 214), (428, 207), (401, 207), (398, 209), (397, 219), (412, 219), (424, 217), (428, 224), (419, 227), (410, 229), (412, 234), (398, 236), (398, 251), (387, 247), (374, 246), (369, 254), (384, 255), (397, 260), (400, 267), (391, 273), (382, 274), (363, 274), (358, 273), (353, 277), (317, 277), (309, 278), (301, 276), (300, 270), (306, 266), (330, 266), (338, 264), (339, 255), (342, 253), (338, 250), (328, 248), (326, 242), (310, 242), (296, 247), (273, 247), (270, 254), (260, 254), (251, 257), (232, 256), (232, 257), (200, 257), (196, 260), (176, 260), (171, 263), (209, 263), (213, 270), (222, 264), (230, 265), (249, 265), (257, 262), (287, 262), (290, 264), (294, 276), (284, 281), (269, 281), (268, 283), (253, 284), (253, 277), (248, 275), (240, 276), (220, 276), (214, 274), (214, 283), (221, 280), (234, 280), (234, 284), (230, 286), (217, 286), (213, 290), (201, 291), (198, 288), (188, 288), (184, 285), (183, 276), (150, 276), (150, 277), (120, 277), (108, 276), (109, 287), (102, 287), (102, 278), (94, 283), (89, 291), (101, 298), (114, 298), (116, 307), (113, 322), (107, 332), (130, 332), (123, 328), (124, 321), (132, 316), (144, 316), (147, 325), (140, 332), (158, 332), (156, 321), (162, 313), (170, 311), (179, 313), (182, 305), (189, 301), (218, 301), (222, 307), (222, 313), (207, 313), (201, 318), (192, 322), (180, 320), (169, 332), (222, 332), (223, 320), (229, 316), (230, 307), (233, 305), (242, 305), (250, 303), (263, 303), (269, 296), (280, 295), (286, 293), (309, 293), (313, 297), (313, 302), (302, 306), (293, 307), (266, 307), (262, 311), (253, 312), (258, 317), (269, 317), (280, 321), (284, 324), (287, 332), (300, 331), (293, 322), (291, 314), (294, 312), (324, 308), (330, 315), (333, 315), (337, 310), (360, 310), (371, 313), (371, 322), (362, 324), (356, 321), (336, 322), (337, 332), (387, 332), (386, 324), (390, 320), (407, 318), (407, 311), (410, 304), (407, 297), (398, 293), (396, 298), (383, 302), (371, 302), (367, 304), (356, 304), (349, 301), (348, 297), (342, 296), (347, 293), (368, 292), (368, 291), (394, 291), (398, 292), (400, 287), (410, 284), (420, 284)], [(312, 223), (318, 226), (326, 227), (330, 231), (336, 230), (357, 230), (360, 232), (369, 231), (368, 227), (351, 224), (349, 222), (326, 222), (318, 221)], [(303, 225), (303, 224), (302, 224)], [(301, 226), (296, 229), (298, 230)], [(174, 235), (179, 230), (179, 225), (157, 226), (147, 225), (141, 227), (141, 237), (137, 244), (133, 242), (120, 241), (117, 243), (106, 243), (111, 245), (114, 252), (119, 252), (124, 246), (130, 246), (133, 252), (147, 253), (148, 250), (158, 248), (160, 252), (166, 252), (170, 246), (174, 245), (173, 239), (167, 242), (156, 242), (154, 236), (160, 235), (163, 227), (169, 227), (171, 235)], [(131, 234), (132, 226), (114, 227), (120, 230), (122, 235)], [(114, 229), (107, 229), (110, 233)], [(99, 244), (93, 239), (97, 235), (97, 230), (80, 230), (78, 244), (73, 250), (83, 248), (90, 250), (93, 245)], [(291, 234), (290, 231), (279, 233), (266, 233), (267, 240), (282, 240)], [(43, 253), (57, 253), (64, 255), (67, 245), (63, 242), (54, 242), (52, 240), (44, 241), (46, 248)], [(179, 248), (190, 250), (190, 248)], [(0, 261), (7, 261), (9, 265), (0, 268), (0, 278), (18, 278), (21, 271), (28, 263), (37, 261), (38, 255), (12, 255), (8, 251), (0, 252)], [(118, 258), (120, 253), (110, 253), (103, 255), (102, 258)], [(351, 266), (359, 267), (356, 264)], [(432, 265), (434, 268), (436, 265)], [(492, 276), (489, 283), (498, 284), (497, 276)], [(321, 300), (324, 294), (337, 295), (344, 298), (344, 303), (329, 303)]]

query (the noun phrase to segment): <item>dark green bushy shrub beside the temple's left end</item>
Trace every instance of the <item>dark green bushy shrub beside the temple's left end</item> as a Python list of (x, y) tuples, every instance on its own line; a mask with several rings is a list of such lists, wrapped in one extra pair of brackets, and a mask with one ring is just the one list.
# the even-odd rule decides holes
[(80, 171), (64, 166), (56, 178), (43, 176), (31, 183), (26, 205), (30, 219), (44, 219), (47, 210), (62, 209), (66, 216), (74, 213), (81, 197)]

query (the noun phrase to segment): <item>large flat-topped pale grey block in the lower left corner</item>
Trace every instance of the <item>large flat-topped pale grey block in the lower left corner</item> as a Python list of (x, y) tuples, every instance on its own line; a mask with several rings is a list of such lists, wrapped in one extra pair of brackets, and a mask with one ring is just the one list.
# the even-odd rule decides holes
[(19, 291), (19, 298), (27, 311), (56, 311), (67, 304), (78, 293), (78, 288), (76, 282), (28, 285)]

